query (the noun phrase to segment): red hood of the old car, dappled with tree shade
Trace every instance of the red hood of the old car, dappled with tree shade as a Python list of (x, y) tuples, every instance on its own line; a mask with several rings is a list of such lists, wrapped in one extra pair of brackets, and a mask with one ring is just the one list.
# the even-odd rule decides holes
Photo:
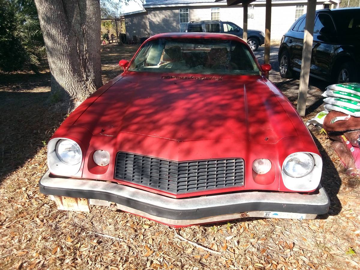
[(273, 144), (297, 135), (260, 76), (128, 72), (77, 118), (93, 135), (123, 132), (174, 141), (244, 138)]

